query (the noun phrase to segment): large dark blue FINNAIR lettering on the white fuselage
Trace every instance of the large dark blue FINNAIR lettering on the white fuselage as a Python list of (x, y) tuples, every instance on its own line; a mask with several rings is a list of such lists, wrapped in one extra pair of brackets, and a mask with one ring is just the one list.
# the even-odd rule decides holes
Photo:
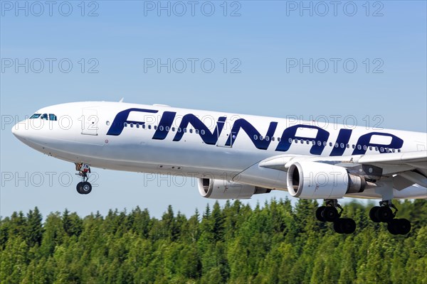
[[(128, 116), (131, 111), (139, 111), (145, 112), (149, 114), (157, 114), (159, 111), (154, 109), (125, 109), (120, 111), (116, 116), (110, 129), (107, 131), (107, 135), (119, 136), (125, 124), (141, 124), (144, 125), (145, 121), (130, 121), (128, 120)], [(172, 130), (172, 124), (176, 117), (176, 112), (174, 111), (164, 111), (162, 117), (159, 120), (158, 127), (152, 136), (152, 139), (164, 140), (167, 138), (167, 135)], [(214, 131), (210, 131), (209, 127), (204, 124), (199, 118), (197, 118), (194, 114), (186, 114), (182, 117), (181, 123), (179, 124), (179, 128), (176, 131), (176, 134), (173, 138), (173, 141), (181, 141), (184, 134), (186, 133), (186, 128), (189, 124), (196, 129), (196, 133), (199, 134), (204, 143), (209, 145), (216, 145), (218, 141), (218, 137), (221, 135), (221, 131), (223, 131), (223, 126), (226, 121), (226, 116), (220, 116), (218, 121), (216, 121), (216, 127)], [(228, 135), (226, 146), (233, 146), (233, 143), (236, 141), (238, 133), (240, 130), (243, 130), (248, 137), (251, 139), (253, 145), (261, 150), (267, 150), (270, 146), (271, 141), (273, 141), (273, 137), (275, 135), (275, 130), (277, 129), (278, 122), (271, 121), (268, 126), (268, 131), (265, 133), (265, 136), (262, 136), (260, 132), (255, 129), (255, 127), (246, 119), (238, 119), (234, 122), (231, 132)], [(317, 134), (315, 137), (305, 137), (305, 136), (297, 136), (297, 130), (299, 128), (302, 129), (315, 129), (317, 130)], [(352, 136), (351, 129), (340, 129), (337, 141), (334, 143), (332, 151), (330, 155), (339, 156), (343, 155), (346, 148), (349, 148), (350, 137)], [(379, 143), (371, 143), (372, 136), (386, 136), (391, 138), (391, 142), (389, 144), (379, 144)], [(310, 154), (312, 155), (322, 155), (325, 150), (325, 146), (327, 145), (328, 138), (330, 137), (330, 133), (325, 129), (321, 129), (318, 126), (310, 126), (305, 124), (298, 124), (295, 126), (290, 126), (285, 129), (282, 133), (281, 140), (278, 143), (278, 146), (275, 148), (275, 151), (286, 152), (289, 151), (290, 146), (292, 146), (292, 141), (295, 139), (303, 140), (303, 141), (311, 141)], [(404, 145), (404, 141), (391, 134), (391, 133), (382, 133), (382, 132), (370, 132), (366, 133), (359, 137), (356, 146), (354, 146), (354, 151), (352, 155), (361, 155), (367, 152), (369, 147), (378, 147), (380, 153), (386, 153), (386, 148), (389, 149), (400, 149)]]

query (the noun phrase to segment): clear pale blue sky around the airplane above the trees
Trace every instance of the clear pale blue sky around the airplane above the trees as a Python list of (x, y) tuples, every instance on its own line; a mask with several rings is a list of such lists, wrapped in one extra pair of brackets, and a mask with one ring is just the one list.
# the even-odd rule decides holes
[[(11, 134), (11, 121), (52, 104), (125, 97), (427, 129), (426, 1), (339, 1), (336, 11), (330, 1), (305, 1), (308, 10), (300, 1), (194, 1), (194, 15), (188, 1), (162, 1), (170, 11), (158, 1), (34, 3), (1, 1), (1, 216), (34, 206), (45, 215), (65, 207), (85, 215), (139, 205), (159, 217), (168, 204), (190, 215), (212, 203), (192, 180), (178, 186), (181, 181), (110, 170), (96, 170), (99, 186), (78, 195), (73, 164)], [(170, 72), (158, 70), (157, 62), (168, 59)]]

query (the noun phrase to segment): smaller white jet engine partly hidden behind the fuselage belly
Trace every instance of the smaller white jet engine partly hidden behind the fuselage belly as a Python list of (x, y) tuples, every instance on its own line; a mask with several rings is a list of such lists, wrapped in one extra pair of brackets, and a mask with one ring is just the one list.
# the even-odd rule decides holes
[(205, 198), (214, 200), (246, 200), (252, 195), (268, 193), (271, 190), (253, 185), (243, 185), (227, 180), (211, 180), (199, 178), (199, 192)]

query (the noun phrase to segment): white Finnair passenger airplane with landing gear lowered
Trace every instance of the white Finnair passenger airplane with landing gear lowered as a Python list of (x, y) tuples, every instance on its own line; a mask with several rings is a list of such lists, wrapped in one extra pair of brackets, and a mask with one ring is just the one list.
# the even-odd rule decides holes
[(44, 107), (12, 128), (31, 148), (90, 168), (196, 178), (202, 197), (248, 199), (272, 190), (325, 200), (315, 217), (352, 234), (343, 197), (379, 199), (369, 217), (408, 234), (394, 199), (427, 198), (427, 133), (180, 109), (164, 104), (73, 102)]

